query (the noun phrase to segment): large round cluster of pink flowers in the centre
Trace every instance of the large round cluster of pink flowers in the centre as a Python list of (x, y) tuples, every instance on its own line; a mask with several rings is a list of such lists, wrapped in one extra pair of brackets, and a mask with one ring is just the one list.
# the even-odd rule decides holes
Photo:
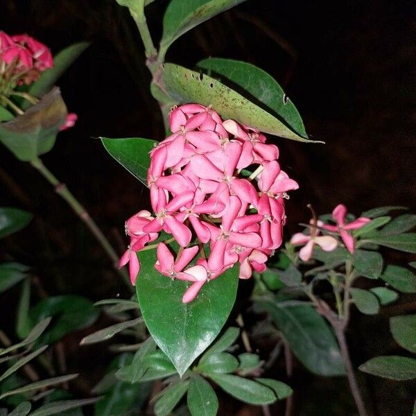
[[(148, 186), (155, 216), (140, 211), (126, 223), (131, 242), (121, 258), (130, 261), (135, 284), (140, 269), (135, 252), (155, 241), (162, 229), (181, 246), (176, 261), (164, 243), (157, 247), (155, 267), (168, 277), (191, 281), (182, 302), (235, 263), (239, 277), (263, 271), (272, 250), (281, 245), (286, 221), (286, 191), (298, 185), (281, 171), (277, 146), (266, 144), (259, 131), (223, 121), (210, 107), (186, 104), (169, 115), (172, 135), (150, 152)], [(253, 171), (243, 177), (241, 171)], [(209, 256), (186, 268), (199, 247), (209, 243)]]

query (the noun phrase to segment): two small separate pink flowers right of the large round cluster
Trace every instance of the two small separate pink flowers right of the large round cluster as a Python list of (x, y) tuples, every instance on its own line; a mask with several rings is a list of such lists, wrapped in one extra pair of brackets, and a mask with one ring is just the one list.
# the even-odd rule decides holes
[(370, 222), (370, 218), (360, 217), (351, 223), (345, 223), (345, 217), (347, 216), (347, 207), (343, 204), (337, 205), (332, 211), (332, 218), (335, 220), (336, 225), (324, 224), (322, 221), (311, 220), (311, 234), (302, 234), (298, 232), (292, 236), (291, 243), (295, 245), (304, 245), (300, 249), (299, 257), (302, 261), (309, 261), (313, 254), (313, 248), (315, 244), (318, 244), (322, 250), (331, 252), (338, 246), (338, 240), (333, 236), (320, 236), (319, 229), (323, 228), (329, 232), (339, 234), (347, 250), (354, 254), (355, 240), (349, 231), (352, 229), (359, 229), (365, 224)]

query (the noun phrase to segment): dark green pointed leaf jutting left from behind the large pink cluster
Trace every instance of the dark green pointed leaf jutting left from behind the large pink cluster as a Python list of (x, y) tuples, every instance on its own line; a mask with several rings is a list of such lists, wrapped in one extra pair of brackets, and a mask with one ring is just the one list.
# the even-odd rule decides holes
[(150, 139), (106, 139), (101, 138), (107, 150), (119, 164), (126, 168), (133, 176), (148, 186), (147, 171), (150, 166), (149, 152), (157, 141)]

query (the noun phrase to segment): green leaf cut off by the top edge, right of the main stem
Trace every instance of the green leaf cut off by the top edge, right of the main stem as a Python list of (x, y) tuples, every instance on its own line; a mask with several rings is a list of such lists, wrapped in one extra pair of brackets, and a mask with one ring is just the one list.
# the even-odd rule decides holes
[(178, 37), (245, 0), (171, 0), (163, 19), (161, 49), (166, 51)]

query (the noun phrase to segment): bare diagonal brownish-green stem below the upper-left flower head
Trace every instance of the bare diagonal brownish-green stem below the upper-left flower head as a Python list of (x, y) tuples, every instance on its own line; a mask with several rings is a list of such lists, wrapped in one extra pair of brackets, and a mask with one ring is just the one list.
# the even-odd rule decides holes
[(83, 207), (83, 205), (78, 202), (78, 200), (72, 195), (72, 193), (68, 190), (67, 186), (61, 183), (54, 175), (49, 171), (46, 166), (42, 163), (40, 159), (34, 159), (31, 161), (31, 164), (34, 168), (36, 168), (44, 178), (55, 188), (55, 192), (58, 193), (67, 203), (68, 205), (75, 211), (75, 213), (80, 217), (81, 220), (84, 221), (85, 225), (89, 228), (89, 231), (94, 234), (95, 238), (97, 239), (98, 243), (101, 244), (101, 247), (105, 251), (108, 257), (110, 257), (112, 261), (113, 267), (119, 272), (125, 284), (130, 288), (130, 279), (128, 274), (123, 269), (119, 269), (119, 256), (116, 254), (110, 242), (105, 238), (101, 229), (98, 228), (94, 220), (89, 216), (87, 210)]

